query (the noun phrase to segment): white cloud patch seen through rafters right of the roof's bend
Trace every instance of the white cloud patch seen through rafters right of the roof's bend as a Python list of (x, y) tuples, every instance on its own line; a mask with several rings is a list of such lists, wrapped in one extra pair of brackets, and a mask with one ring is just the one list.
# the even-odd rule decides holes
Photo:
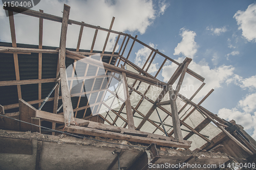
[[(153, 43), (150, 43), (150, 46), (153, 48), (156, 48), (156, 45), (154, 45)], [(143, 48), (138, 50), (138, 52), (135, 53), (136, 57), (135, 57), (134, 63), (142, 68), (144, 63), (146, 62), (148, 56), (150, 56), (151, 52), (152, 52), (152, 50), (150, 50), (150, 48), (147, 48), (144, 46)], [(153, 54), (152, 54), (151, 58), (152, 57), (153, 57)], [(150, 61), (151, 61), (151, 59), (148, 60), (144, 70), (147, 68)], [(158, 63), (154, 63), (154, 61), (153, 61), (150, 65), (150, 67), (148, 68), (147, 72), (150, 74), (153, 72), (156, 72), (158, 70), (157, 65), (158, 65)]]

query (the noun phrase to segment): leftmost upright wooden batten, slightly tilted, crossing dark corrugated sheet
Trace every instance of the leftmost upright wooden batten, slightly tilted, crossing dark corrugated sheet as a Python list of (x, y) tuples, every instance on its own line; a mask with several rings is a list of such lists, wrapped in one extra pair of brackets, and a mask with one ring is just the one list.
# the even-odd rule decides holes
[[(8, 14), (9, 14), (10, 29), (11, 29), (12, 47), (17, 47), (13, 12), (8, 11)], [(18, 54), (17, 53), (13, 53), (13, 59), (14, 59), (16, 80), (19, 80)], [(18, 91), (18, 99), (22, 99), (22, 89), (21, 89), (20, 85), (17, 85), (17, 91)]]

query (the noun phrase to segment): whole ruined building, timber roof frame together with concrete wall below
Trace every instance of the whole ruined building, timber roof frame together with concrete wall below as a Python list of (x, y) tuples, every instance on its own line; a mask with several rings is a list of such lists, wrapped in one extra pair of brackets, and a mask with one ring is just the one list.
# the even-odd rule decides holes
[[(165, 162), (219, 167), (230, 160), (255, 161), (256, 141), (243, 127), (201, 106), (213, 89), (198, 104), (192, 102), (205, 83), (188, 68), (190, 58), (179, 63), (137, 36), (113, 31), (114, 17), (105, 29), (69, 19), (67, 5), (62, 17), (22, 7), (4, 9), (12, 43), (0, 42), (0, 128), (15, 132), (1, 131), (0, 167), (15, 169), (28, 161), (19, 169), (116, 169), (120, 164), (122, 169), (149, 169)], [(16, 43), (13, 12), (39, 18), (39, 45)], [(58, 47), (42, 45), (45, 19), (62, 23)], [(72, 25), (80, 26), (76, 49), (66, 48)], [(80, 49), (84, 27), (95, 30), (90, 50)], [(102, 51), (95, 51), (99, 31), (108, 34)], [(118, 36), (112, 52), (105, 52), (110, 34)], [(134, 45), (152, 51), (142, 68), (129, 60)], [(163, 62), (151, 75), (148, 69), (157, 57)], [(157, 77), (167, 61), (177, 69), (165, 83)], [(202, 82), (189, 98), (179, 93), (186, 74)], [(83, 140), (52, 136), (60, 131)]]

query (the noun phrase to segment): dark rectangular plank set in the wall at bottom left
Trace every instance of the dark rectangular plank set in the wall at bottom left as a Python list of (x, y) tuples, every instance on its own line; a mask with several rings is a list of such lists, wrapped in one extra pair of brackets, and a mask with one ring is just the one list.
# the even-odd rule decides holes
[(0, 137), (0, 153), (32, 155), (32, 139)]

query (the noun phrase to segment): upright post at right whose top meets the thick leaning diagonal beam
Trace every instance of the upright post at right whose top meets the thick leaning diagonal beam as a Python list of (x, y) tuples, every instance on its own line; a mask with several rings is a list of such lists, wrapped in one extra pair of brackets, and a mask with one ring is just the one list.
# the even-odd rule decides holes
[(176, 96), (172, 85), (168, 85), (168, 91), (170, 96), (170, 107), (172, 109), (172, 119), (173, 119), (173, 128), (174, 128), (174, 137), (179, 142), (183, 142), (183, 137), (180, 129), (180, 118), (178, 114)]

